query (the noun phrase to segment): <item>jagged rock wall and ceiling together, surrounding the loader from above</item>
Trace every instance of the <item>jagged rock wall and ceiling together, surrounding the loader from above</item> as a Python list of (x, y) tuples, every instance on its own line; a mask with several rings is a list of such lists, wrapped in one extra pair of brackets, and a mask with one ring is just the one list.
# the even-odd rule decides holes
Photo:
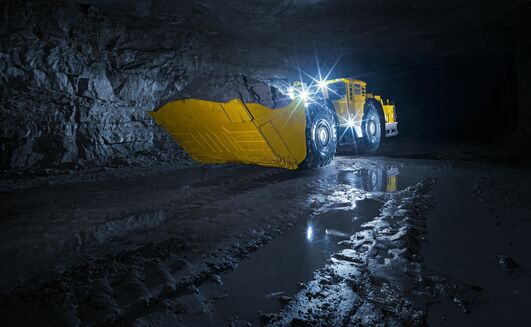
[(345, 76), (364, 61), (380, 70), (515, 53), (518, 125), (531, 134), (525, 0), (8, 0), (0, 9), (0, 169), (182, 160), (147, 111), (185, 97), (281, 106), (270, 86), (298, 78), (295, 57), (314, 67), (315, 53), (321, 63), (342, 57)]

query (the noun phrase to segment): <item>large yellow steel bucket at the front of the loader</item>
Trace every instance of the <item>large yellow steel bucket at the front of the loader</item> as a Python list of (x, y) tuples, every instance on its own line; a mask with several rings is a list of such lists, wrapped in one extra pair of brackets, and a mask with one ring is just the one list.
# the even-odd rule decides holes
[(297, 169), (306, 157), (306, 110), (300, 101), (271, 109), (239, 99), (186, 99), (150, 115), (201, 163)]

